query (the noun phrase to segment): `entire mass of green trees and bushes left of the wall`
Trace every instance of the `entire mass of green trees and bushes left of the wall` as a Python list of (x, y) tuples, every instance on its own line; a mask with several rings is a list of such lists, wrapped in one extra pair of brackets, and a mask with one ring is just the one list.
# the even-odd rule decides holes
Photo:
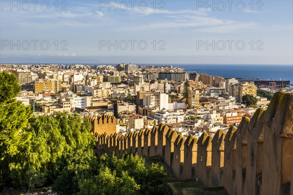
[(164, 194), (162, 166), (146, 166), (138, 155), (97, 158), (87, 118), (33, 117), (15, 99), (20, 90), (16, 76), (0, 73), (0, 192), (4, 185), (31, 189), (49, 182), (61, 195)]

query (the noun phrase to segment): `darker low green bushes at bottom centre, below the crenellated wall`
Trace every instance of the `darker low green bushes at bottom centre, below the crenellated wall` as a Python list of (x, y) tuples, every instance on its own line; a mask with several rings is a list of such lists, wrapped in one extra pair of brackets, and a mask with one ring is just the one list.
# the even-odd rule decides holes
[(160, 195), (165, 176), (162, 166), (146, 166), (137, 154), (105, 154), (99, 159), (76, 154), (69, 158), (55, 188), (61, 195)]

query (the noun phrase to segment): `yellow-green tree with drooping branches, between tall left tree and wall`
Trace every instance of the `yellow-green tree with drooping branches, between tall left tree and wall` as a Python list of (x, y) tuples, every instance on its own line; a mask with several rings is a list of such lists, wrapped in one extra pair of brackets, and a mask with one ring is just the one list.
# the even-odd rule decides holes
[(64, 163), (76, 151), (93, 153), (94, 137), (90, 123), (77, 115), (55, 113), (54, 116), (31, 118), (15, 144), (17, 153), (1, 161), (3, 180), (19, 187), (28, 184), (27, 175), (43, 176), (53, 181)]

